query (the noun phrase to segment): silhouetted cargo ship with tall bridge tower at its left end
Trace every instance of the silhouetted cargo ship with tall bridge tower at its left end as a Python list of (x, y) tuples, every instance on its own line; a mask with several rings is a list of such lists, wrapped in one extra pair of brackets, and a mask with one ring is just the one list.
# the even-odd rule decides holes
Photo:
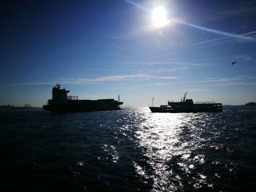
[(121, 104), (124, 102), (114, 99), (97, 99), (97, 100), (80, 100), (78, 96), (67, 96), (65, 88), (57, 83), (53, 87), (53, 98), (48, 100), (48, 103), (43, 105), (44, 110), (51, 112), (94, 112), (106, 110), (120, 110)]

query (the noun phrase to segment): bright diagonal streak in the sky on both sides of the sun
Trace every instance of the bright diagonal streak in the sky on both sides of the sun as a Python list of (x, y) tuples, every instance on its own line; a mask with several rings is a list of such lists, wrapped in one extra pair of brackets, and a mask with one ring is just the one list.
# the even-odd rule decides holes
[[(131, 0), (124, 0), (126, 1), (127, 3), (129, 4), (132, 4), (134, 5), (135, 7), (138, 7), (140, 9), (143, 9), (144, 11), (151, 11), (150, 9), (146, 9), (145, 7), (141, 6), (140, 4), (137, 4), (135, 3), (134, 1), (131, 1)], [(200, 29), (200, 30), (203, 30), (203, 31), (207, 31), (209, 33), (212, 33), (212, 34), (219, 34), (219, 35), (222, 35), (222, 36), (225, 36), (225, 37), (232, 37), (232, 38), (237, 38), (237, 39), (244, 39), (244, 40), (249, 40), (249, 41), (253, 41), (253, 42), (256, 42), (256, 39), (253, 38), (253, 37), (245, 37), (243, 35), (238, 35), (238, 34), (231, 34), (231, 33), (228, 33), (228, 32), (225, 32), (225, 31), (219, 31), (219, 30), (216, 30), (216, 29), (213, 29), (213, 28), (207, 28), (207, 27), (203, 27), (203, 26), (197, 26), (195, 24), (192, 24), (192, 23), (187, 23), (187, 22), (184, 22), (182, 20), (175, 20), (175, 19), (172, 19), (170, 21), (174, 21), (176, 23), (180, 23), (180, 24), (183, 24), (183, 25), (186, 25), (186, 26), (190, 26), (192, 28), (197, 28), (197, 29)]]

